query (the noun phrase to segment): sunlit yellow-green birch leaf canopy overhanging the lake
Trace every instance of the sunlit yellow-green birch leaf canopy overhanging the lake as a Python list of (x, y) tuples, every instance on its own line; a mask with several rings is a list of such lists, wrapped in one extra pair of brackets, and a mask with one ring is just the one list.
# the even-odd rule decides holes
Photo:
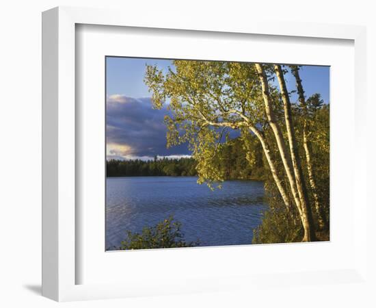
[[(265, 124), (256, 68), (240, 62), (175, 60), (173, 64), (174, 69), (165, 74), (147, 66), (144, 81), (155, 108), (170, 100), (170, 115), (165, 116), (167, 146), (187, 142), (197, 162), (198, 183), (213, 188), (228, 178), (219, 154), (225, 129), (241, 130), (248, 136), (242, 130), (244, 118)], [(270, 70), (269, 66), (265, 69)], [(271, 93), (277, 97), (276, 88), (271, 87)], [(280, 105), (278, 99), (276, 104)]]

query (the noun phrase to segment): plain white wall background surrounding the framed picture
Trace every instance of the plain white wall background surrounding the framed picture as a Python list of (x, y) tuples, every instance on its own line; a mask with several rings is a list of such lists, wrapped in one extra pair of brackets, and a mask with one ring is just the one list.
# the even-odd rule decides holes
[[(376, 112), (373, 89), (376, 77), (376, 18), (373, 1), (115, 1), (115, 0), (13, 0), (0, 7), (0, 306), (1, 307), (375, 307), (376, 287), (364, 285), (301, 286), (275, 292), (248, 294), (192, 294), (157, 298), (129, 298), (57, 304), (40, 296), (41, 247), (41, 12), (57, 5), (125, 8), (148, 18), (237, 18), (265, 15), (265, 20), (310, 21), (366, 25), (368, 31), (368, 141), (375, 157)], [(126, 18), (126, 15), (124, 16)], [(344, 132), (345, 133), (345, 132)], [(344, 166), (345, 168), (345, 166)], [(375, 163), (368, 162), (375, 171)], [(360, 179), (362, 180), (362, 179)], [(368, 188), (371, 192), (368, 173)], [(370, 195), (371, 196), (371, 193)], [(369, 205), (375, 205), (370, 201)], [(370, 206), (368, 213), (375, 217)], [(375, 235), (375, 227), (369, 231)], [(370, 237), (371, 238), (371, 237)], [(375, 236), (369, 248), (375, 263)], [(371, 242), (373, 241), (373, 243)], [(375, 266), (370, 271), (375, 274)], [(372, 290), (373, 289), (373, 290)], [(303, 307), (303, 306), (301, 306)]]

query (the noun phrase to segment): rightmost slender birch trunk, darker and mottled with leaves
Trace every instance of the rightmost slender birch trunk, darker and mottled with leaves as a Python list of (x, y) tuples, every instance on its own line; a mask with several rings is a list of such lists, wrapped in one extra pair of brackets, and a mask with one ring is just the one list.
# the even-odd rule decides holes
[(304, 151), (306, 153), (308, 178), (310, 181), (310, 187), (312, 189), (312, 195), (314, 198), (314, 208), (317, 214), (319, 229), (325, 229), (327, 223), (325, 222), (323, 210), (320, 205), (319, 194), (317, 193), (317, 185), (316, 185), (316, 181), (314, 179), (314, 174), (313, 174), (312, 159), (311, 159), (311, 154), (310, 154), (311, 146), (310, 146), (310, 141), (308, 140), (309, 139), (308, 138), (308, 131), (309, 131), (308, 110), (307, 110), (307, 105), (306, 105), (306, 99), (304, 98), (304, 90), (301, 84), (298, 66), (291, 66), (291, 73), (293, 73), (293, 76), (295, 77), (297, 93), (299, 96), (299, 103), (304, 112), (303, 146), (304, 146)]

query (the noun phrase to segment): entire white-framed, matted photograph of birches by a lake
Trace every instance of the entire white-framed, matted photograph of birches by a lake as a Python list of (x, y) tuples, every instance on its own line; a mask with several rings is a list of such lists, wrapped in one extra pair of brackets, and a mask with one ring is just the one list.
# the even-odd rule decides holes
[(364, 281), (363, 27), (54, 8), (42, 34), (44, 296)]

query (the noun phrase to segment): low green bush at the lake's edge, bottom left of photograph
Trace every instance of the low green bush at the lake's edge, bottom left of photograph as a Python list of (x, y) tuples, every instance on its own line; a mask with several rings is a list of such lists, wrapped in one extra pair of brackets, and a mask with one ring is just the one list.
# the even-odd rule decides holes
[(120, 250), (177, 248), (198, 246), (197, 242), (185, 242), (180, 231), (181, 223), (169, 218), (159, 222), (155, 227), (145, 227), (142, 233), (127, 232), (126, 240), (121, 242)]

